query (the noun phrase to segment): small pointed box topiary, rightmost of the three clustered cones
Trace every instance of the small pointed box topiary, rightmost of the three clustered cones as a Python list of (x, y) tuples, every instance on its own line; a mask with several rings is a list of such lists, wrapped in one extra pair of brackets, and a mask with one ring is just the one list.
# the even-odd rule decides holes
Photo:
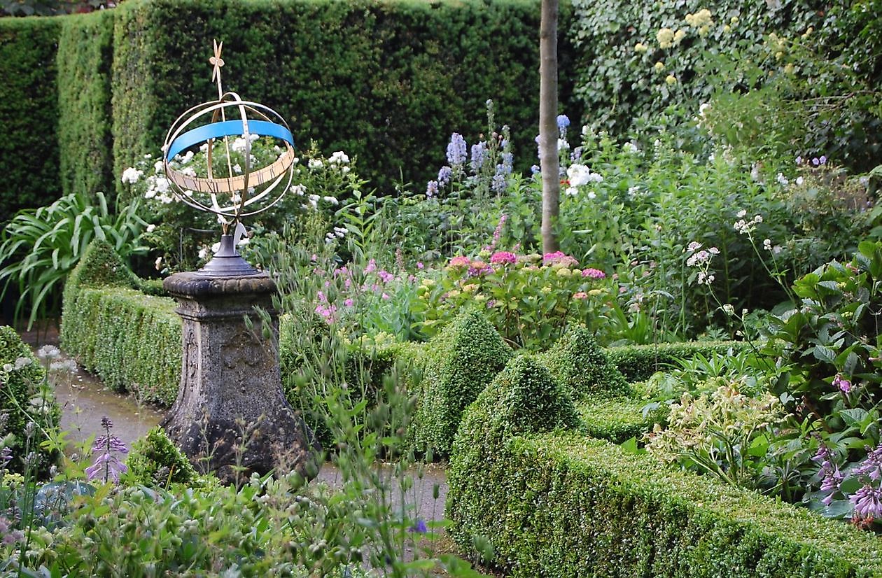
[(584, 327), (567, 330), (539, 359), (564, 385), (574, 402), (631, 393), (624, 375), (609, 362), (594, 336)]

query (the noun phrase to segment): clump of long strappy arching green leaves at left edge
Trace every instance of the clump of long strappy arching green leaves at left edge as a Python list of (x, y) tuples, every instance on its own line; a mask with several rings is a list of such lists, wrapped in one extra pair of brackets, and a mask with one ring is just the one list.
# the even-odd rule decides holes
[(0, 270), (0, 281), (5, 281), (3, 293), (11, 284), (17, 285), (16, 313), (30, 308), (28, 327), (40, 315), (59, 312), (64, 280), (93, 239), (107, 241), (123, 258), (146, 252), (139, 244), (146, 223), (138, 217), (138, 200), (114, 216), (104, 195), (95, 196), (95, 204), (90, 197), (75, 193), (48, 207), (20, 211), (4, 228), (0, 260), (24, 257)]

